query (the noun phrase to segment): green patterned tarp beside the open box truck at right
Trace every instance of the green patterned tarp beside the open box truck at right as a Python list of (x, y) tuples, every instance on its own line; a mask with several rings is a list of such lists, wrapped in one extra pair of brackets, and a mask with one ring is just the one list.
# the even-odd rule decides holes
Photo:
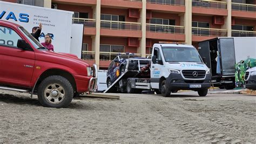
[(241, 60), (235, 64), (235, 87), (244, 87), (245, 84), (245, 72), (249, 68), (256, 66), (256, 59), (248, 58)]

